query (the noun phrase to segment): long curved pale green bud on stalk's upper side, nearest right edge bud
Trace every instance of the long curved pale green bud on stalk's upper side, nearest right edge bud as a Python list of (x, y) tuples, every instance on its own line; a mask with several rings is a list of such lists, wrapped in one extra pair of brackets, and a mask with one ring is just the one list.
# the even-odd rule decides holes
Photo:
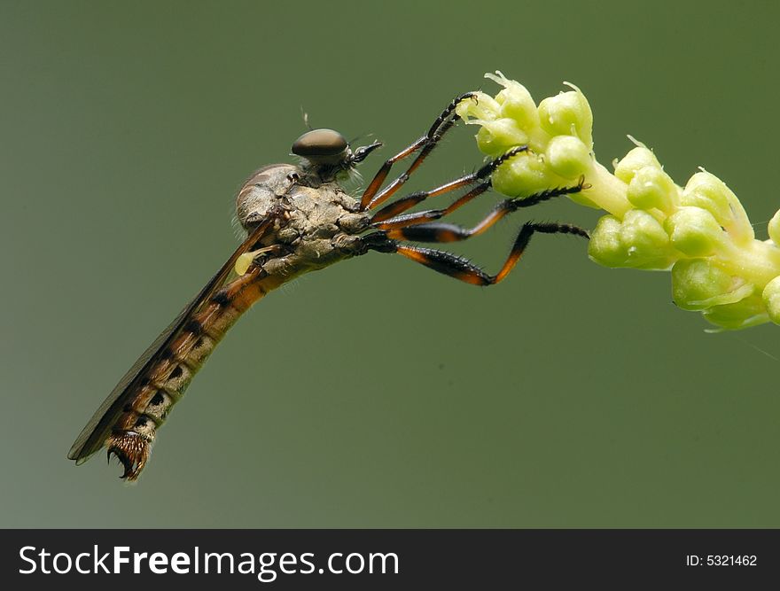
[(691, 176), (680, 203), (683, 206), (701, 207), (713, 214), (737, 244), (745, 244), (755, 237), (742, 204), (729, 187), (714, 175), (700, 172)]

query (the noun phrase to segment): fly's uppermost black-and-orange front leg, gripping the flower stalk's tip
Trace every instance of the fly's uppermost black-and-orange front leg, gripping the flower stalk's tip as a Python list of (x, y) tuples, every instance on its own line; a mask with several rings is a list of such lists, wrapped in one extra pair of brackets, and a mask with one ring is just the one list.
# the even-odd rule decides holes
[[(366, 190), (363, 191), (363, 197), (360, 200), (361, 211), (370, 209), (372, 206), (378, 206), (387, 198), (390, 198), (395, 191), (398, 191), (403, 183), (406, 183), (406, 181), (409, 179), (409, 175), (411, 175), (417, 169), (417, 167), (423, 163), (423, 160), (425, 160), (428, 154), (433, 152), (433, 148), (435, 148), (436, 144), (439, 143), (441, 137), (444, 136), (448, 129), (451, 128), (455, 122), (460, 119), (460, 116), (455, 113), (456, 106), (460, 105), (464, 100), (468, 100), (476, 96), (476, 92), (466, 92), (453, 99), (452, 102), (447, 105), (447, 108), (441, 112), (441, 115), (436, 118), (436, 121), (433, 121), (433, 125), (430, 129), (428, 129), (428, 133), (426, 133), (425, 136), (421, 136), (419, 139), (417, 139), (416, 142), (410, 144), (401, 152), (395, 154), (393, 158), (386, 159), (382, 167), (379, 168), (377, 174), (374, 175), (374, 178), (371, 180), (368, 187), (366, 187)], [(421, 148), (421, 152), (417, 154), (417, 158), (414, 159), (414, 161), (409, 165), (409, 168), (407, 168), (406, 172), (404, 172), (402, 175), (399, 175), (392, 183), (388, 184), (385, 189), (379, 191), (382, 183), (385, 182), (387, 175), (390, 173), (390, 168), (393, 167), (393, 165), (399, 160), (409, 157), (411, 154), (417, 152), (417, 150), (420, 150)]]

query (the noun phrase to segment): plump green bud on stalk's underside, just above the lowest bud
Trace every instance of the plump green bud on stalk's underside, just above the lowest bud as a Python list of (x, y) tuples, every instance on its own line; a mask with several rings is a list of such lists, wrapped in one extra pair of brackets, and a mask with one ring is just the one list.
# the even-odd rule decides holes
[(732, 277), (706, 259), (682, 259), (672, 268), (672, 294), (683, 310), (733, 304), (749, 297), (753, 285)]

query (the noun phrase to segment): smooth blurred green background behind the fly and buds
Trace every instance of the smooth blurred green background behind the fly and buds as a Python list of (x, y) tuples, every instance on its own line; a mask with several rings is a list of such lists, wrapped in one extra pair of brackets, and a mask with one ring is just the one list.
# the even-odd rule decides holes
[[(710, 335), (669, 276), (537, 237), (503, 284), (371, 254), (231, 331), (136, 486), (75, 435), (237, 245), (246, 175), (305, 130), (381, 159), (499, 68), (578, 84), (605, 165), (698, 166), (766, 237), (780, 134), (776, 3), (0, 4), (0, 525), (780, 526), (780, 334)], [(411, 189), (480, 165), (460, 128)], [(354, 188), (356, 190), (356, 187)], [(495, 195), (460, 220), (484, 214)], [(527, 216), (455, 250), (493, 270)]]

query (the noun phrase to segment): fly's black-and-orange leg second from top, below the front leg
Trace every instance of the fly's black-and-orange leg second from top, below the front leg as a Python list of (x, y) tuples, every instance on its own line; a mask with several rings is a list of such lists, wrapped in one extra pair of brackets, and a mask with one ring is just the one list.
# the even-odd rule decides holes
[[(386, 229), (389, 226), (387, 226), (387, 224), (383, 225), (379, 222), (386, 222), (387, 220), (391, 220), (391, 218), (393, 218), (392, 222), (394, 222), (395, 224), (394, 227), (398, 227), (397, 225), (398, 219), (395, 218), (395, 216), (397, 216), (398, 214), (402, 214), (405, 211), (408, 211), (412, 207), (416, 206), (418, 203), (425, 201), (426, 198), (436, 197), (437, 195), (448, 193), (449, 191), (456, 191), (457, 189), (461, 189), (462, 187), (468, 186), (472, 183), (477, 183), (478, 181), (482, 181), (482, 183), (480, 183), (472, 191), (466, 193), (462, 198), (457, 199), (455, 203), (453, 203), (451, 206), (447, 207), (446, 209), (421, 212), (420, 214), (413, 214), (412, 216), (406, 216), (403, 217), (402, 219), (412, 220), (415, 219), (414, 215), (422, 215), (423, 217), (425, 217), (425, 214), (433, 214), (433, 212), (442, 212), (441, 215), (439, 215), (438, 217), (441, 217), (445, 214), (450, 214), (454, 212), (458, 207), (464, 206), (473, 198), (487, 191), (490, 188), (491, 184), (490, 181), (485, 179), (487, 179), (487, 177), (492, 175), (495, 172), (496, 168), (500, 167), (504, 162), (506, 162), (508, 159), (511, 159), (513, 156), (517, 156), (519, 153), (527, 152), (527, 151), (528, 151), (527, 145), (519, 145), (515, 148), (512, 148), (509, 152), (503, 154), (503, 156), (496, 158), (492, 162), (488, 162), (485, 166), (481, 167), (477, 172), (471, 173), (469, 175), (461, 176), (455, 181), (444, 183), (441, 186), (436, 187), (435, 189), (432, 189), (430, 191), (417, 191), (417, 193), (412, 193), (411, 195), (402, 197), (394, 201), (390, 205), (382, 207), (382, 209), (380, 209), (376, 214), (374, 214), (371, 217), (370, 222), (374, 224), (374, 227), (377, 229)], [(428, 217), (422, 220), (422, 222), (431, 219), (438, 219), (438, 218)], [(417, 223), (422, 223), (422, 222), (417, 222)]]

